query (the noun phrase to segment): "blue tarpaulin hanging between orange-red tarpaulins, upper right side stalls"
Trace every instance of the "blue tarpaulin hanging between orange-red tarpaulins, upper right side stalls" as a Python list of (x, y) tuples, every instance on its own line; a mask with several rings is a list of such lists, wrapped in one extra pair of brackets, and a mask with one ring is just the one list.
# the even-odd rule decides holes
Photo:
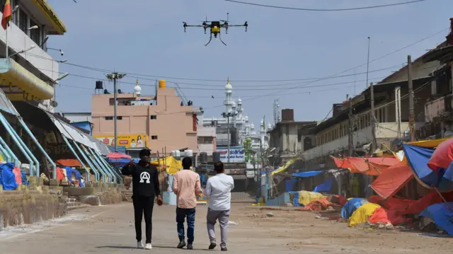
[(430, 161), (434, 149), (412, 146), (410, 144), (403, 144), (403, 149), (409, 166), (411, 166), (411, 170), (415, 178), (418, 178), (420, 184), (425, 185), (425, 187), (437, 186), (440, 181), (440, 175), (437, 175), (435, 171), (428, 167), (428, 161)]

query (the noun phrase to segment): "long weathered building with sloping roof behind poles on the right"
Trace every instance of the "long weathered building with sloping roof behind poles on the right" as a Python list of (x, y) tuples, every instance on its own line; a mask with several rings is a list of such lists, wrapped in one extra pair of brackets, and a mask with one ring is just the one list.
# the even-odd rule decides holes
[[(430, 74), (439, 67), (436, 62), (425, 63), (423, 57), (415, 59), (412, 64), (415, 129), (418, 137), (425, 122), (425, 101), (430, 97)], [(395, 139), (409, 135), (407, 77), (408, 69), (405, 66), (373, 86), (377, 149), (388, 150)], [(304, 151), (304, 159), (319, 166), (326, 163), (330, 155), (348, 155), (349, 134), (352, 134), (352, 156), (367, 154), (373, 137), (370, 98), (368, 87), (360, 95), (343, 102), (343, 105), (334, 104), (333, 116), (311, 130), (315, 146)]]

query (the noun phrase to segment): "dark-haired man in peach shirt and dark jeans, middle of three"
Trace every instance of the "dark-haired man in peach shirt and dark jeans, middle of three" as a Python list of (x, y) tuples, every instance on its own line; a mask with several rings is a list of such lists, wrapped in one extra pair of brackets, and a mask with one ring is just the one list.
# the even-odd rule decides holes
[(173, 177), (173, 192), (176, 194), (176, 222), (178, 224), (179, 244), (177, 248), (185, 247), (184, 221), (187, 218), (187, 248), (193, 249), (195, 231), (195, 207), (197, 195), (202, 192), (200, 175), (190, 170), (192, 158), (183, 158), (183, 170)]

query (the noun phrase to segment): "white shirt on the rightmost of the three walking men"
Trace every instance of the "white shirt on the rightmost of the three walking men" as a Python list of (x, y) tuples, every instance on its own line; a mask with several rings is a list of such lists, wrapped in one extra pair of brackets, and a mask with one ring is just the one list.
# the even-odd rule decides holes
[(214, 211), (231, 209), (231, 190), (234, 180), (231, 175), (217, 174), (210, 177), (206, 183), (206, 195), (209, 197), (209, 207)]

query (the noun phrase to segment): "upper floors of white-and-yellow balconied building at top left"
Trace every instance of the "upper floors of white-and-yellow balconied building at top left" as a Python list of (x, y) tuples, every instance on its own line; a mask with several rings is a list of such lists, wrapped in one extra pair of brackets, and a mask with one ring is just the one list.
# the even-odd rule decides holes
[[(3, 11), (5, 0), (0, 2)], [(53, 111), (57, 107), (54, 86), (64, 76), (59, 76), (62, 59), (47, 53), (52, 50), (47, 42), (50, 35), (66, 33), (66, 27), (45, 0), (11, 0), (11, 8), (14, 11), (8, 36), (0, 29), (1, 88), (9, 100), (25, 100)]]

